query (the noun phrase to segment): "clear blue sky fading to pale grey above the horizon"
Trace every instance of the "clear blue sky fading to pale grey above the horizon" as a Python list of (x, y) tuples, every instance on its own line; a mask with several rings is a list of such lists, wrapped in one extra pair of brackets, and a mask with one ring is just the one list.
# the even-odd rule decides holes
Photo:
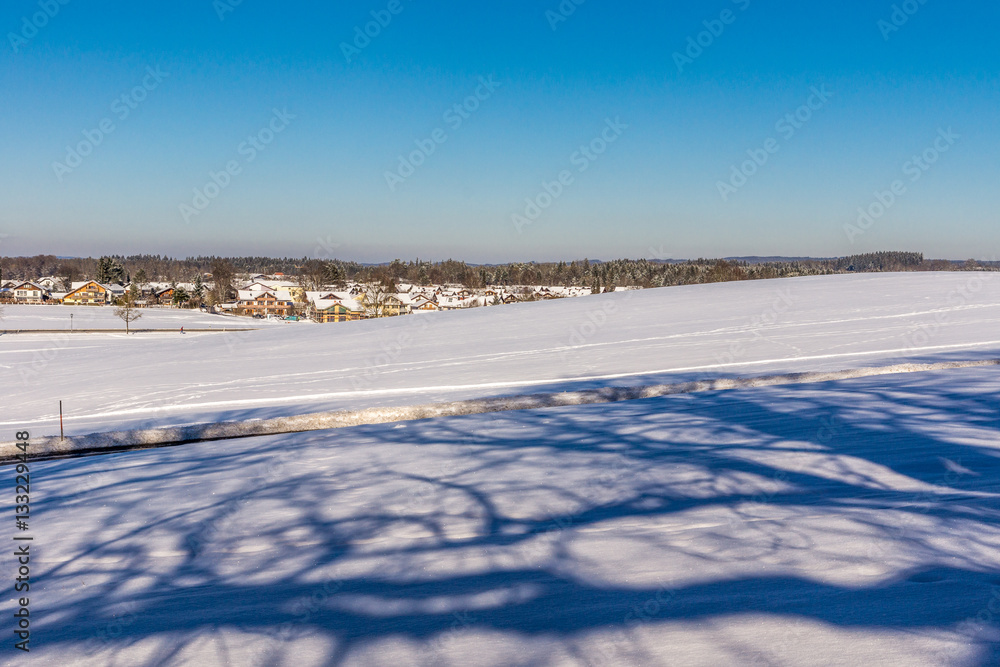
[(3, 4), (0, 254), (1000, 255), (995, 2), (235, 3)]

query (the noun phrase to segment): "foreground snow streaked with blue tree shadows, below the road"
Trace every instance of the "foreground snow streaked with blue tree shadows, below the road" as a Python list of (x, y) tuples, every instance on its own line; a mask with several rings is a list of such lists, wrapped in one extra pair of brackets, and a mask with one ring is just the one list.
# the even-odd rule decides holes
[(33, 658), (996, 664), (998, 395), (988, 367), (35, 463)]

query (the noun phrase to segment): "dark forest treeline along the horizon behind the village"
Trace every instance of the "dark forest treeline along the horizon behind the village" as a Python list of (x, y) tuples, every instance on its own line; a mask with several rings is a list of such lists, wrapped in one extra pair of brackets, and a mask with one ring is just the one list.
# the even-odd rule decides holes
[(880, 271), (998, 270), (1000, 262), (928, 260), (918, 252), (875, 252), (834, 259), (742, 261), (695, 259), (659, 261), (583, 259), (572, 262), (513, 262), (475, 265), (456, 260), (429, 262), (394, 260), (361, 264), (342, 260), (273, 257), (188, 257), (109, 255), (100, 258), (58, 258), (53, 255), (0, 258), (0, 279), (31, 280), (54, 276), (69, 283), (79, 280), (127, 283), (194, 281), (196, 277), (226, 271), (232, 275), (283, 273), (303, 284), (344, 281), (406, 282), (421, 285), (582, 285), (601, 291), (614, 286), (663, 287), (696, 283), (759, 280), (792, 276)]

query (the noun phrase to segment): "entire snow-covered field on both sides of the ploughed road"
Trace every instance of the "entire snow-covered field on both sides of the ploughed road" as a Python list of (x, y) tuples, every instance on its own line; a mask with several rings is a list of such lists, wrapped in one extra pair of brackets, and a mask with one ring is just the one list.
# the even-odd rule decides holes
[[(241, 334), (3, 336), (3, 428), (52, 432), (59, 398), (87, 432), (996, 358), (998, 324), (1000, 275), (946, 273)], [(189, 444), (31, 476), (38, 664), (1000, 664), (996, 366)]]

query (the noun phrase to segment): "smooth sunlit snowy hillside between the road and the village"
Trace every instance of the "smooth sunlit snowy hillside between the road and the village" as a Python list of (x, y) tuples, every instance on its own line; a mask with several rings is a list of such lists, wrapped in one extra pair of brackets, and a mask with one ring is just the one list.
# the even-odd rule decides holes
[[(9, 307), (4, 327), (50, 311)], [(174, 313), (157, 311), (149, 321)], [(8, 335), (0, 337), (2, 391), (16, 407), (0, 427), (58, 433), (60, 399), (72, 434), (998, 356), (998, 322), (1000, 274), (905, 273), (671, 287), (240, 333)]]

